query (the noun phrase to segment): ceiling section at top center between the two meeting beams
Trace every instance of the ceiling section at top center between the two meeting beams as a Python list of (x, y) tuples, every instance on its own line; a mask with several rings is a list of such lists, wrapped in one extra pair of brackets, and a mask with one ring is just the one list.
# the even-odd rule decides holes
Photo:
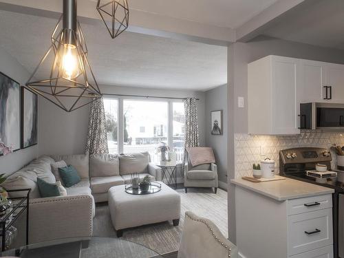
[[(237, 28), (278, 0), (130, 0), (129, 8), (220, 27)], [(289, 0), (284, 0), (289, 1)]]

